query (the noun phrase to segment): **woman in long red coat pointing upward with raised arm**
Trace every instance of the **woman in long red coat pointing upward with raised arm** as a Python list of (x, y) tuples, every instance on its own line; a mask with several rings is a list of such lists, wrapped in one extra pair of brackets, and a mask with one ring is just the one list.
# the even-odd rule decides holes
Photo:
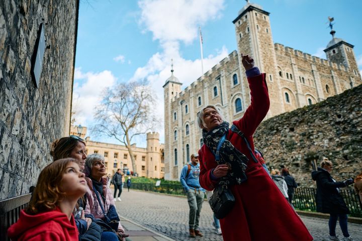
[[(251, 104), (244, 116), (233, 124), (247, 139), (229, 129), (218, 109), (208, 105), (198, 113), (204, 145), (199, 150), (200, 184), (213, 190), (227, 180), (235, 205), (220, 219), (224, 240), (313, 240), (308, 229), (254, 156), (252, 135), (269, 109), (265, 74), (260, 74), (253, 59), (242, 56), (248, 77)], [(220, 140), (220, 160), (215, 153)]]

